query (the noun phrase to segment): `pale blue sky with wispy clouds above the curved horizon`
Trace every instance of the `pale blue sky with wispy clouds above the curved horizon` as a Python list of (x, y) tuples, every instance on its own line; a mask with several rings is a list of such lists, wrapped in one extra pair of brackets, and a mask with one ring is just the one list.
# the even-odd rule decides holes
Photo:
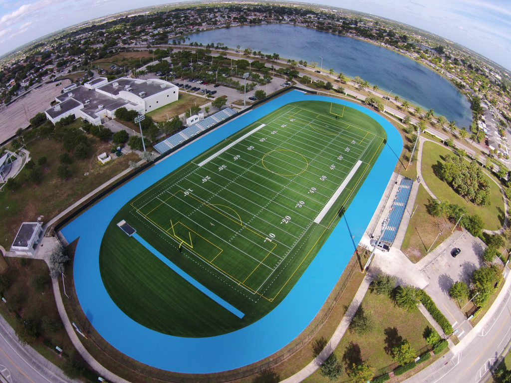
[[(100, 16), (158, 0), (0, 0), (0, 55), (18, 46)], [(511, 70), (511, 0), (320, 0), (421, 28)]]

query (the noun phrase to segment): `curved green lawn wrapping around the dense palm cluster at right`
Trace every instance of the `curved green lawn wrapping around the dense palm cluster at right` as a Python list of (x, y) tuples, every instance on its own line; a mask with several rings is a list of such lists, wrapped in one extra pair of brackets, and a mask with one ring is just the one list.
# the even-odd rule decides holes
[(504, 223), (504, 202), (500, 189), (493, 179), (486, 175), (484, 176), (490, 184), (490, 205), (478, 206), (458, 196), (446, 182), (440, 180), (435, 175), (435, 169), (438, 169), (440, 164), (444, 162), (442, 158), (451, 153), (449, 149), (434, 142), (424, 142), (422, 155), (424, 182), (440, 200), (447, 200), (451, 203), (464, 206), (469, 214), (478, 214), (485, 224), (485, 229), (500, 229)]

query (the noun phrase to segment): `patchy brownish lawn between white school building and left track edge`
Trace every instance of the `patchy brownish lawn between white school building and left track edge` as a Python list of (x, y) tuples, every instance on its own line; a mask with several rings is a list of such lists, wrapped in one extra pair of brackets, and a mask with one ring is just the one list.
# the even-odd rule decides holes
[[(135, 154), (113, 157), (113, 160), (100, 166), (97, 156), (110, 152), (111, 143), (99, 141), (89, 136), (91, 156), (84, 160), (74, 159), (69, 165), (71, 177), (65, 181), (57, 176), (60, 165), (58, 156), (63, 153), (62, 144), (54, 139), (35, 140), (27, 143), (32, 159), (37, 163), (41, 157), (47, 157), (48, 163), (41, 169), (42, 181), (34, 184), (29, 180), (26, 167), (16, 177), (19, 186), (15, 192), (6, 190), (0, 193), (0, 245), (9, 249), (19, 225), (33, 222), (39, 216), (47, 222), (59, 212), (94, 190), (114, 175), (128, 168), (129, 160), (138, 159)], [(84, 176), (88, 173), (87, 176)]]

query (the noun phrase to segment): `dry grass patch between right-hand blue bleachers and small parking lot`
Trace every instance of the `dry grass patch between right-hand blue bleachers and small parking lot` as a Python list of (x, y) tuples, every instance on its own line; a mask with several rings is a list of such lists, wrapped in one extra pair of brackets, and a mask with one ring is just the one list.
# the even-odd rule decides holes
[[(426, 207), (431, 200), (431, 196), (421, 184), (415, 199), (417, 210), (415, 210), (415, 214), (413, 214), (408, 224), (401, 246), (403, 253), (413, 263), (420, 261), (426, 255), (426, 251), (433, 244), (435, 237), (440, 231), (443, 234), (436, 240), (436, 246), (441, 244), (451, 234), (452, 224), (449, 224), (444, 218), (433, 217), (428, 213)], [(436, 247), (435, 245), (433, 245), (432, 249)]]

